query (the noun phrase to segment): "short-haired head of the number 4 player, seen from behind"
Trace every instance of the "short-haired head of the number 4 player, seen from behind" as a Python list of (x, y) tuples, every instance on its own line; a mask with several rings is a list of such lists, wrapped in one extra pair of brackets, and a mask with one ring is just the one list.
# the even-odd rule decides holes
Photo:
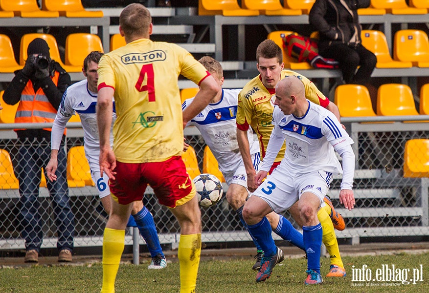
[(147, 35), (151, 22), (151, 13), (139, 3), (127, 5), (119, 16), (119, 25), (126, 37)]

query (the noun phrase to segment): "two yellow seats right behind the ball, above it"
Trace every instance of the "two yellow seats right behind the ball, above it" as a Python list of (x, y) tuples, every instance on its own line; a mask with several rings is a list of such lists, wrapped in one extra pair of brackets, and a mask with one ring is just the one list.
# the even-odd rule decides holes
[[(185, 163), (186, 171), (192, 179), (201, 174), (200, 167), (198, 167), (197, 155), (195, 154), (195, 149), (192, 146), (189, 146), (189, 148), (183, 152), (182, 160), (183, 163)], [(218, 161), (216, 161), (208, 146), (204, 147), (203, 173), (213, 174), (218, 177), (221, 182), (225, 182), (224, 175), (222, 175), (222, 172), (219, 170)]]

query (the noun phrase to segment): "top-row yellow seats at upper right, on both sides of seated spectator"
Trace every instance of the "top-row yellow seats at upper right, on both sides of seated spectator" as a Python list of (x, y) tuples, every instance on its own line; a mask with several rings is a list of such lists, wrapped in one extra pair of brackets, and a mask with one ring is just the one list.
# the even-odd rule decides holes
[[(257, 16), (308, 14), (315, 0), (199, 0), (199, 15)], [(427, 14), (429, 1), (371, 0), (368, 8), (358, 10), (360, 15)]]

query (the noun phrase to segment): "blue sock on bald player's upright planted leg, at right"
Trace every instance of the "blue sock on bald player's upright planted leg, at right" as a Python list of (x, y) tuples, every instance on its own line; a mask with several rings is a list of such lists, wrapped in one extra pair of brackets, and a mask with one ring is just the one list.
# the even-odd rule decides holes
[(320, 273), (320, 246), (322, 245), (322, 225), (302, 226), (302, 238), (307, 252), (307, 269)]

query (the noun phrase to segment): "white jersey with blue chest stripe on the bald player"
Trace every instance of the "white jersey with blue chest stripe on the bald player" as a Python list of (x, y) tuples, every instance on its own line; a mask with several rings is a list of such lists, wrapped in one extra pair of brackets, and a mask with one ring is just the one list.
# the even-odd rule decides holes
[[(269, 170), (274, 162), (275, 150), (286, 140), (285, 157), (279, 167), (293, 173), (317, 170), (333, 174), (342, 173), (335, 150), (353, 144), (353, 140), (332, 112), (308, 100), (307, 102), (308, 110), (299, 118), (293, 114), (285, 115), (278, 106), (274, 107), (272, 114), (274, 129), (262, 170)], [(280, 146), (276, 146), (278, 144)]]

